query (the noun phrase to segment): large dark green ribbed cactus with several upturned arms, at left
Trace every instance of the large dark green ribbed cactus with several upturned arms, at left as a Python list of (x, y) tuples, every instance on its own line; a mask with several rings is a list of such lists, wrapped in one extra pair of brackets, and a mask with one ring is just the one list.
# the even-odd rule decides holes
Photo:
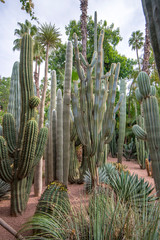
[(0, 177), (11, 184), (11, 215), (22, 214), (26, 208), (33, 181), (34, 166), (42, 157), (47, 140), (46, 128), (38, 133), (34, 120), (39, 99), (34, 97), (32, 78), (32, 39), (25, 34), (21, 43), (20, 84), (21, 120), (18, 140), (13, 116), (3, 117), (3, 137), (0, 137)]

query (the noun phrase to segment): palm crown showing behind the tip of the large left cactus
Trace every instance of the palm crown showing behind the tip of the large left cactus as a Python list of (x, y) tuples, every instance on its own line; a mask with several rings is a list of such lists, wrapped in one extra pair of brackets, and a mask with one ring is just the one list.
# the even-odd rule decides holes
[(20, 50), (21, 47), (21, 39), (25, 33), (30, 34), (31, 37), (35, 36), (37, 33), (37, 27), (36, 25), (32, 25), (28, 20), (25, 20), (25, 23), (17, 23), (20, 27), (20, 29), (15, 29), (14, 35), (16, 35), (18, 38), (14, 40), (13, 42), (13, 51)]

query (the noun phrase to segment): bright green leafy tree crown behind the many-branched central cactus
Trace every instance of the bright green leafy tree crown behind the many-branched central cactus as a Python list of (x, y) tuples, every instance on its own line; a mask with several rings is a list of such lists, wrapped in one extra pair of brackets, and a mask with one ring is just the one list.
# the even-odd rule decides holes
[[(70, 21), (69, 25), (65, 27), (66, 35), (69, 40), (73, 40), (73, 33), (77, 34), (78, 45), (81, 50), (81, 28), (80, 21), (76, 22), (75, 20)], [(125, 56), (122, 56), (116, 50), (116, 46), (122, 40), (120, 36), (119, 28), (114, 29), (114, 24), (107, 26), (106, 21), (99, 21), (97, 24), (97, 35), (99, 36), (100, 31), (104, 30), (104, 73), (109, 71), (111, 63), (121, 63), (120, 77), (126, 78), (133, 71), (133, 66), (135, 65), (135, 61), (132, 59), (128, 59)], [(94, 21), (92, 17), (88, 17), (87, 22), (87, 59), (90, 62), (92, 58), (92, 54), (94, 52)]]

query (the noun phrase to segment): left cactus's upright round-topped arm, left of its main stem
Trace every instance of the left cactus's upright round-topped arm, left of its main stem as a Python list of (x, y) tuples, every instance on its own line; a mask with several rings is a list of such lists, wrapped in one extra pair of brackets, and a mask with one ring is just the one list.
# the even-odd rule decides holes
[(8, 145), (8, 151), (11, 155), (13, 155), (16, 150), (16, 130), (12, 114), (6, 113), (4, 115), (2, 125), (4, 138), (6, 139)]

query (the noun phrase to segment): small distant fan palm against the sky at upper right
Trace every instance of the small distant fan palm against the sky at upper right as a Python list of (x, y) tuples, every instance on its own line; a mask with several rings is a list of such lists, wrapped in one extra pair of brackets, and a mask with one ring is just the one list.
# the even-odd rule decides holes
[(143, 46), (143, 40), (144, 40), (143, 33), (140, 30), (138, 30), (136, 32), (132, 32), (131, 37), (128, 41), (129, 46), (132, 46), (132, 50), (136, 50), (139, 71), (141, 70), (141, 67), (139, 62), (138, 50), (141, 49), (141, 47)]

